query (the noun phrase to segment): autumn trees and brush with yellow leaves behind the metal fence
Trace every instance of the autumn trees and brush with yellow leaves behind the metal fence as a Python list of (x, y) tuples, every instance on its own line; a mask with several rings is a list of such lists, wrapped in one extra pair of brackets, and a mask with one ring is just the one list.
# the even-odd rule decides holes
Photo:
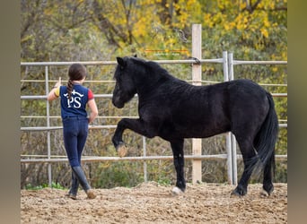
[[(241, 60), (287, 60), (286, 0), (21, 0), (21, 61), (105, 61), (116, 56), (137, 54), (150, 60), (186, 59), (191, 56), (191, 26), (202, 24), (203, 58), (222, 57), (223, 50)], [(173, 75), (191, 79), (189, 65), (163, 65)], [(87, 66), (90, 76), (85, 85), (96, 94), (111, 93), (114, 66)], [(223, 81), (221, 65), (202, 66), (202, 78)], [(54, 85), (58, 77), (66, 81), (66, 66), (50, 66), (48, 76)], [(287, 83), (286, 65), (237, 65), (235, 78), (250, 78), (259, 83)], [(46, 95), (45, 68), (22, 66), (21, 95)], [(204, 83), (206, 84), (206, 83)], [(286, 92), (285, 86), (264, 86), (271, 92)], [(137, 101), (126, 108), (114, 108), (110, 99), (96, 99), (100, 116), (137, 116)], [(287, 120), (287, 99), (275, 98), (278, 118)], [(21, 126), (45, 126), (47, 103), (44, 99), (21, 101)], [(59, 101), (51, 102), (51, 125), (61, 125)], [(29, 117), (32, 116), (32, 117)], [(36, 117), (33, 117), (36, 116)], [(99, 117), (96, 125), (116, 125), (118, 119)], [(92, 129), (84, 155), (114, 156), (110, 142), (113, 129)], [(280, 129), (276, 154), (286, 154), (287, 130)], [(125, 133), (130, 146), (128, 156), (142, 155), (142, 137)], [(147, 155), (171, 155), (168, 142), (146, 139)], [(203, 154), (225, 153), (224, 135), (203, 141)], [(51, 132), (51, 154), (65, 156), (62, 132)], [(185, 142), (191, 154), (191, 141)], [(22, 132), (22, 155), (46, 155), (47, 132)], [(22, 157), (26, 158), (26, 157)], [(286, 182), (286, 160), (277, 162), (276, 182)], [(241, 175), (241, 163), (238, 163)], [(143, 162), (85, 163), (94, 187), (133, 186), (144, 181)], [(174, 184), (172, 161), (147, 162), (148, 180)], [(226, 163), (203, 161), (203, 181), (227, 181)], [(186, 177), (191, 180), (191, 164), (186, 162)], [(55, 185), (69, 185), (66, 163), (52, 165)], [(259, 181), (254, 178), (252, 181)], [(46, 164), (22, 164), (21, 187), (48, 183)]]

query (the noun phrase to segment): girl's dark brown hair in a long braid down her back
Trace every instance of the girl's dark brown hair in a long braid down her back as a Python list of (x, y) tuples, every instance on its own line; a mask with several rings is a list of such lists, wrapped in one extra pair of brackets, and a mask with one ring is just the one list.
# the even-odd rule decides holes
[(86, 77), (86, 68), (84, 65), (81, 64), (73, 64), (70, 65), (68, 69), (68, 82), (67, 82), (67, 92), (68, 92), (68, 99), (72, 96), (72, 91), (74, 88), (73, 81), (79, 81), (82, 80), (84, 77)]

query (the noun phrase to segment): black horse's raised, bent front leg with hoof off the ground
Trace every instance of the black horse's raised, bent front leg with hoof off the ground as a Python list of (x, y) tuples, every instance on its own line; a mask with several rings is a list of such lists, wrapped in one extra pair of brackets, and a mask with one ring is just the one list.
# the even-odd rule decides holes
[(118, 122), (118, 126), (112, 137), (112, 142), (118, 151), (120, 157), (123, 157), (127, 153), (127, 147), (122, 139), (122, 135), (126, 129), (130, 129), (137, 134), (146, 135), (144, 123), (140, 119), (123, 118)]

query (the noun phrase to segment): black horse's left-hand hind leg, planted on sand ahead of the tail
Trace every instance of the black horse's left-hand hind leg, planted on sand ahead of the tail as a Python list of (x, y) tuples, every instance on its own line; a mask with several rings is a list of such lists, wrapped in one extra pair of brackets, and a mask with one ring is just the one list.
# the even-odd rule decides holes
[(232, 194), (242, 196), (247, 194), (247, 186), (249, 184), (250, 176), (254, 168), (254, 165), (257, 162), (257, 159), (255, 157), (256, 152), (254, 151), (252, 141), (249, 141), (249, 139), (247, 138), (246, 139), (237, 138), (237, 141), (243, 157), (244, 171), (242, 173), (241, 179), (237, 187), (233, 190)]

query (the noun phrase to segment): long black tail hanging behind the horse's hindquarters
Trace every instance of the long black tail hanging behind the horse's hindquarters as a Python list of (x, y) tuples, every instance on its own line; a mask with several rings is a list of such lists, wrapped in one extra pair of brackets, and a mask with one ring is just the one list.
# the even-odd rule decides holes
[(278, 118), (274, 106), (272, 95), (267, 92), (269, 109), (268, 115), (259, 129), (254, 147), (258, 151), (258, 159), (260, 162), (256, 165), (256, 170), (264, 168), (268, 163), (271, 163), (272, 177), (275, 175), (275, 144), (278, 135)]

